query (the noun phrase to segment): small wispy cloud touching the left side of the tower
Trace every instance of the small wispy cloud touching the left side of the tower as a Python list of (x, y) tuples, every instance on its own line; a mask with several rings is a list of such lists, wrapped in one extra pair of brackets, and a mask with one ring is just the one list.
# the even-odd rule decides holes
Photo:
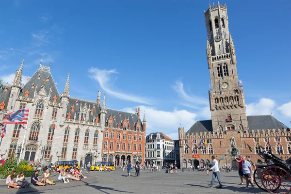
[[(209, 105), (209, 100), (203, 97), (198, 97), (195, 95), (188, 95), (184, 91), (184, 86), (181, 81), (176, 81), (175, 85), (173, 86), (173, 89), (178, 93), (179, 97), (186, 100), (188, 103), (181, 102), (182, 105), (188, 106), (190, 108), (198, 108), (196, 105)], [(189, 104), (194, 103), (194, 104)]]

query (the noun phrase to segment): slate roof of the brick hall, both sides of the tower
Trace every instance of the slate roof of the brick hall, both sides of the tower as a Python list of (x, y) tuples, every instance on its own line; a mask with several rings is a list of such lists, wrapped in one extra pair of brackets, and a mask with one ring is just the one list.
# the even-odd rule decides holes
[[(281, 123), (273, 115), (253, 115), (247, 116), (249, 130), (252, 129), (288, 129), (286, 125)], [(187, 131), (187, 133), (210, 132), (212, 131), (212, 122), (210, 120), (197, 121)]]

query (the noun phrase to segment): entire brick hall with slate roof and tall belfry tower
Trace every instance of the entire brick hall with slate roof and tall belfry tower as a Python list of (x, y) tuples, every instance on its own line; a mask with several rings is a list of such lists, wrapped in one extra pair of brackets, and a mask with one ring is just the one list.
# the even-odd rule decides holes
[(290, 129), (273, 115), (246, 116), (226, 5), (210, 5), (204, 14), (211, 120), (196, 121), (187, 132), (178, 129), (183, 167), (190, 163), (204, 165), (215, 155), (222, 159), (220, 164), (227, 163), (236, 169), (235, 156), (249, 155), (254, 162), (261, 162), (258, 153), (262, 150), (286, 160), (291, 154)]

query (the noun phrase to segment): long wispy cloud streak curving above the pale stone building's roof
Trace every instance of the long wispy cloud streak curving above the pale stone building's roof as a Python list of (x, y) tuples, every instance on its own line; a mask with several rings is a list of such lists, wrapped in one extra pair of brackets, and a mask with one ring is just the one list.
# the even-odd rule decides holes
[(138, 102), (138, 103), (143, 103), (143, 104), (152, 104), (152, 100), (148, 99), (146, 97), (140, 97), (140, 96), (135, 96), (131, 94), (124, 94), (121, 92), (118, 92), (116, 89), (113, 89), (113, 84), (112, 84), (112, 79), (111, 76), (112, 74), (118, 74), (116, 69), (112, 70), (106, 70), (106, 69), (98, 69), (98, 68), (91, 68), (89, 69), (90, 73), (90, 78), (98, 81), (100, 87), (107, 93), (110, 94), (114, 97), (118, 97), (120, 99), (132, 101), (132, 102)]

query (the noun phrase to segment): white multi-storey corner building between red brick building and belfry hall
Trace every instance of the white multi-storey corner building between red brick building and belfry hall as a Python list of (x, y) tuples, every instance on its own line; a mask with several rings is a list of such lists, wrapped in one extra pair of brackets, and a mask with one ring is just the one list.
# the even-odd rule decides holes
[(146, 164), (163, 165), (175, 163), (174, 141), (162, 132), (150, 133), (146, 136)]

